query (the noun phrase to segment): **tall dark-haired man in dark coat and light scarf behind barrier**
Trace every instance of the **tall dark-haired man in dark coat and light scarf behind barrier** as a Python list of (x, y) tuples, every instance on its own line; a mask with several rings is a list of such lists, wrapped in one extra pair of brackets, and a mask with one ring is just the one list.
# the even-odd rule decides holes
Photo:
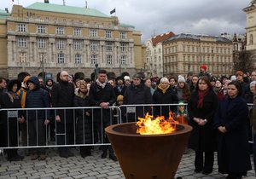
[[(98, 132), (104, 143), (108, 142), (108, 137), (106, 136), (104, 129), (113, 123), (113, 114), (110, 106), (115, 102), (115, 95), (113, 87), (108, 84), (107, 72), (105, 70), (100, 70), (96, 83), (90, 85), (89, 101), (90, 105), (94, 107), (102, 107), (102, 109), (96, 109), (93, 112)], [(113, 148), (111, 146), (102, 147), (102, 159), (107, 157), (107, 152), (109, 152), (109, 158), (116, 161), (116, 157), (113, 154)]]

